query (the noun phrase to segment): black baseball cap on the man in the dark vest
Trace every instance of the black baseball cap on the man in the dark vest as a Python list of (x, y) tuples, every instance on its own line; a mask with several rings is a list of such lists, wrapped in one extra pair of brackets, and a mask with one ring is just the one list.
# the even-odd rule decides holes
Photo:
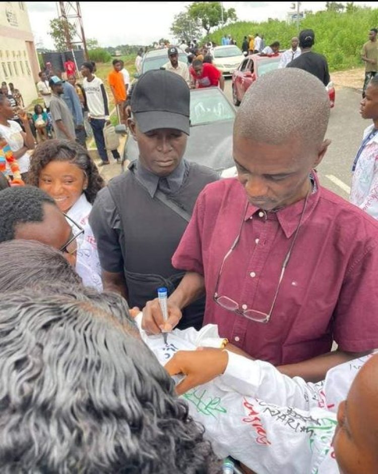
[(190, 132), (190, 90), (181, 76), (147, 71), (134, 86), (131, 110), (143, 133), (158, 128)]

